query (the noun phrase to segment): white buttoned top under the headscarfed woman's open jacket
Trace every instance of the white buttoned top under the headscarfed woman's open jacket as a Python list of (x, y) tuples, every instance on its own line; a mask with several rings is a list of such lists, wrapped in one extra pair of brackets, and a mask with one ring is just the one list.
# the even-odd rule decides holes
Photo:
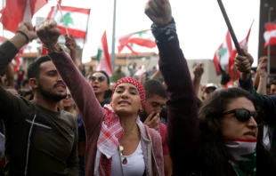
[[(142, 176), (145, 172), (145, 162), (142, 155), (141, 141), (134, 153), (130, 156), (121, 156), (119, 158), (119, 152), (117, 151), (112, 156), (111, 163), (111, 176), (120, 176), (122, 174), (121, 164), (123, 165), (124, 176)], [(123, 160), (126, 158), (127, 163), (123, 164)]]

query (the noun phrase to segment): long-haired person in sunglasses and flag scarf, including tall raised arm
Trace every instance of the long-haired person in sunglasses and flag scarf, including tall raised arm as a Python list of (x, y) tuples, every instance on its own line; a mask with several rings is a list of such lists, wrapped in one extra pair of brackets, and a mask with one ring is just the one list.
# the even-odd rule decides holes
[(276, 175), (275, 159), (257, 138), (261, 119), (252, 96), (239, 88), (217, 90), (198, 115), (169, 2), (149, 0), (145, 12), (153, 22), (159, 68), (169, 94), (167, 142), (173, 175)]

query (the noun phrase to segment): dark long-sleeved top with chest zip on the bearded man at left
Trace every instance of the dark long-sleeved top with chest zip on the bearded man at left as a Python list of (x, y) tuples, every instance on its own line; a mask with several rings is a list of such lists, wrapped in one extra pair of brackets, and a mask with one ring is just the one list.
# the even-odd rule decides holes
[[(0, 71), (17, 52), (10, 42), (0, 45)], [(0, 112), (6, 175), (24, 175), (27, 161), (28, 175), (77, 175), (76, 117), (62, 110), (53, 112), (39, 107), (34, 101), (12, 95), (1, 85)]]

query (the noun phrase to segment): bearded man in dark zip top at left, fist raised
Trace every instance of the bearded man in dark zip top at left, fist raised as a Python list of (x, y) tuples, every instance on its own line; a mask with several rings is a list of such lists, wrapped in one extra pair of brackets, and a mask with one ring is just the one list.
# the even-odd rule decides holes
[[(0, 45), (0, 72), (36, 38), (31, 23), (20, 23), (15, 36)], [(66, 86), (49, 56), (28, 66), (28, 80), (34, 92), (31, 101), (0, 86), (5, 175), (77, 175), (77, 120), (58, 108), (67, 96)]]

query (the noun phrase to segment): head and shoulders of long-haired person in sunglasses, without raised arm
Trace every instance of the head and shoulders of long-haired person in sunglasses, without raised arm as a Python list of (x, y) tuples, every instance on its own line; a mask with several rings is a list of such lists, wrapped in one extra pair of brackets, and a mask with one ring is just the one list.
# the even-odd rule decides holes
[(239, 88), (220, 89), (199, 109), (199, 168), (207, 175), (275, 175), (272, 154), (258, 139), (262, 118), (254, 97)]

